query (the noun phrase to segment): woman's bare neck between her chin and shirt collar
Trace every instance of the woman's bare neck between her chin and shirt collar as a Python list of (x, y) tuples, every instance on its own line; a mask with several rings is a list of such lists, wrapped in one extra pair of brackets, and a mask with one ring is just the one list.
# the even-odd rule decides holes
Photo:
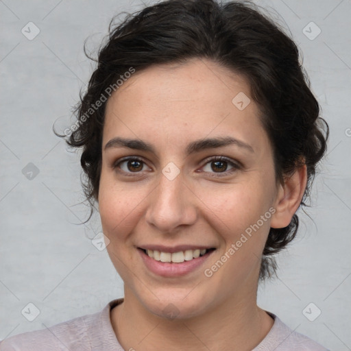
[[(252, 290), (251, 290), (252, 291)], [(257, 291), (257, 289), (256, 289)], [(252, 350), (274, 320), (256, 304), (256, 291), (233, 296), (188, 319), (165, 319), (150, 313), (125, 288), (122, 304), (111, 311), (112, 328), (124, 350)]]

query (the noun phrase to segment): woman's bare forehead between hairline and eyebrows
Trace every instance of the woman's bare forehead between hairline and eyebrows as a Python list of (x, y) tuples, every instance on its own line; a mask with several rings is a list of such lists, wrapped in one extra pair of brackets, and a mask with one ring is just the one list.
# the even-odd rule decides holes
[(104, 143), (116, 134), (154, 142), (167, 135), (178, 145), (233, 134), (259, 149), (266, 137), (259, 113), (245, 78), (215, 62), (154, 65), (136, 71), (108, 99)]

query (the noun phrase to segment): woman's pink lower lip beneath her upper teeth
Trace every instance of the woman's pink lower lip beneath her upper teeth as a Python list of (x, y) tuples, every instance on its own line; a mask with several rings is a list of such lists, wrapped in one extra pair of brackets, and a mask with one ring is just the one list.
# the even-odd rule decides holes
[(200, 267), (207, 258), (214, 252), (206, 252), (204, 256), (199, 256), (198, 258), (193, 258), (191, 261), (184, 261), (182, 263), (173, 263), (173, 262), (161, 262), (156, 261), (154, 258), (151, 258), (143, 250), (138, 249), (138, 252), (141, 254), (143, 261), (146, 267), (152, 271), (154, 274), (162, 277), (179, 277), (189, 274), (191, 271), (195, 271)]

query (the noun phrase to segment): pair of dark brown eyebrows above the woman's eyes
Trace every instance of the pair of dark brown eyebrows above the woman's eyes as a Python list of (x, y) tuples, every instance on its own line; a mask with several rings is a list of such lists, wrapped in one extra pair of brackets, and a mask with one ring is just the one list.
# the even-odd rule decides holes
[[(222, 136), (218, 138), (202, 138), (192, 141), (186, 146), (186, 155), (189, 156), (190, 154), (200, 152), (204, 149), (215, 149), (217, 147), (224, 147), (228, 145), (237, 145), (238, 147), (254, 153), (254, 149), (251, 145), (244, 143), (243, 141), (239, 141), (232, 136)], [(106, 143), (104, 149), (106, 150), (110, 147), (128, 147), (130, 149), (143, 150), (145, 152), (152, 152), (153, 154), (156, 154), (156, 150), (151, 144), (145, 143), (145, 141), (140, 139), (121, 137), (112, 138), (110, 141), (108, 141), (108, 143)]]

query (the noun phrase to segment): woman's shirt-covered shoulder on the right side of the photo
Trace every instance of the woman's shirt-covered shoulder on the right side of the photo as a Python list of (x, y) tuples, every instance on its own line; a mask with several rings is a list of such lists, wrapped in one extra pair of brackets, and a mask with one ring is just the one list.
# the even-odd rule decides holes
[(306, 335), (289, 328), (274, 313), (269, 312), (269, 315), (274, 318), (274, 325), (253, 351), (330, 351)]

